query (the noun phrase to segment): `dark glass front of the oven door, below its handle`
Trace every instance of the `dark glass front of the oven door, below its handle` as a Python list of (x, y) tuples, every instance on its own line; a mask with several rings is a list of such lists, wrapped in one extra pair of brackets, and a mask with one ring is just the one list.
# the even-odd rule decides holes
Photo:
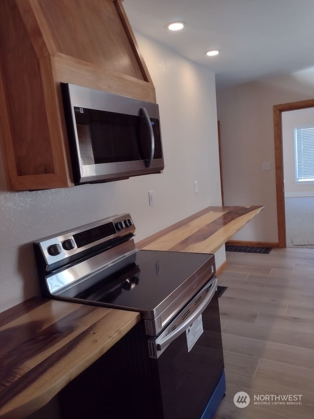
[(188, 348), (185, 332), (157, 360), (164, 419), (200, 418), (223, 372), (218, 298), (202, 313), (204, 332)]

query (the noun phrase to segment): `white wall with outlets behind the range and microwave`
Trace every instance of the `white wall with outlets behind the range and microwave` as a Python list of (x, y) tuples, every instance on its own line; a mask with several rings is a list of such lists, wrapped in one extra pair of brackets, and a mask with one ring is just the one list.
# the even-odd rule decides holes
[[(16, 193), (7, 191), (0, 156), (0, 311), (39, 293), (35, 240), (130, 212), (139, 241), (209, 205), (221, 205), (214, 74), (140, 34), (136, 37), (160, 106), (164, 172)], [(148, 202), (150, 190), (154, 207)], [(221, 249), (217, 267), (224, 260)]]

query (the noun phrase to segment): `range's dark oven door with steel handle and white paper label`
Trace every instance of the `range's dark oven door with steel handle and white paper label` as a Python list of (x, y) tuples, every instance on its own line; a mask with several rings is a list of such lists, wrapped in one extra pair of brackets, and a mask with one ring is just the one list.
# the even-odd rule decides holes
[(224, 370), (216, 285), (217, 279), (211, 279), (166, 331), (149, 339), (159, 377), (160, 418), (196, 419), (210, 411), (209, 399)]

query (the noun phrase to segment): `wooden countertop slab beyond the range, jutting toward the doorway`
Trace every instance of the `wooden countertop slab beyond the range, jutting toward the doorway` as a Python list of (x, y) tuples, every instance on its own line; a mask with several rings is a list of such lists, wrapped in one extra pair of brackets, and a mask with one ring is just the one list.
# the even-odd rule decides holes
[(212, 206), (136, 243), (138, 249), (214, 253), (263, 206)]

